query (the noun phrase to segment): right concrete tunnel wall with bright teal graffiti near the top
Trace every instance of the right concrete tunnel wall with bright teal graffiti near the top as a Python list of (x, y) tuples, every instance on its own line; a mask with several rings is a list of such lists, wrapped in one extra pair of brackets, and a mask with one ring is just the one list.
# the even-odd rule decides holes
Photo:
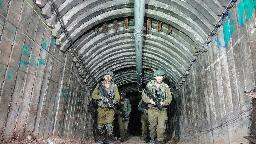
[[(173, 91), (168, 130), (195, 143), (248, 142), (256, 81), (255, 1), (237, 1), (180, 89)], [(178, 87), (178, 86), (177, 86)]]

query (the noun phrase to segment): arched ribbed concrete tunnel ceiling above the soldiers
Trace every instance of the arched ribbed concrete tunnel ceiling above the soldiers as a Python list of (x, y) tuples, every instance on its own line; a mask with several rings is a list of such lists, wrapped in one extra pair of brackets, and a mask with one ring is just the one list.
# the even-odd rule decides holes
[[(102, 79), (103, 71), (112, 70), (120, 90), (136, 91), (134, 37), (131, 39), (134, 34), (134, 0), (53, 2), (78, 57), (97, 82)], [(228, 3), (228, 0), (146, 0), (142, 83), (147, 84), (153, 79), (154, 70), (163, 69), (167, 83), (171, 87), (176, 84)], [(70, 43), (51, 1), (41, 7), (47, 25), (63, 43), (57, 41), (56, 45), (65, 51)], [(125, 26), (126, 18), (128, 27)], [(148, 27), (147, 20), (150, 19), (151, 26)], [(160, 30), (157, 29), (159, 22), (162, 23)], [(97, 83), (89, 75), (84, 76), (84, 81), (92, 87)]]

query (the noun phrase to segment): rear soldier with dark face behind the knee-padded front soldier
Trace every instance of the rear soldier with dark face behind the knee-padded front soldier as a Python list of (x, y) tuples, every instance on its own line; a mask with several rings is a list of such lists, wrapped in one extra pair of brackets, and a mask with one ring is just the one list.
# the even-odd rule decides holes
[(121, 142), (126, 142), (125, 134), (127, 132), (128, 123), (129, 123), (129, 120), (125, 120), (124, 116), (128, 118), (128, 116), (132, 111), (130, 101), (124, 98), (125, 95), (126, 95), (125, 92), (120, 92), (120, 101), (118, 102), (119, 103), (118, 105), (122, 108), (123, 112), (125, 112), (126, 115), (123, 114), (119, 106), (115, 110), (115, 112), (118, 114), (117, 118), (118, 118), (118, 124), (119, 124), (119, 133), (121, 135)]

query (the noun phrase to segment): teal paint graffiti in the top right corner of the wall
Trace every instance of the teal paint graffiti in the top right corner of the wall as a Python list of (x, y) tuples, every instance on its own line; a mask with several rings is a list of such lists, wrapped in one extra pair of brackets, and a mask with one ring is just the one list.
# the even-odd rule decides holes
[(244, 26), (243, 22), (243, 13), (246, 10), (246, 21), (248, 21), (252, 17), (252, 11), (256, 8), (256, 1), (254, 3), (252, 0), (243, 0), (238, 4), (238, 18), (241, 26)]

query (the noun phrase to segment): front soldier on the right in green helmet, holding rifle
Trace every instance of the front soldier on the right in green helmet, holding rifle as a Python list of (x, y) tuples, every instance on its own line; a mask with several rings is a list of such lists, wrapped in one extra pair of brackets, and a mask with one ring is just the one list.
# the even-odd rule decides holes
[[(145, 103), (148, 103), (148, 121), (151, 137), (149, 144), (154, 144), (155, 138), (157, 138), (157, 144), (162, 144), (162, 141), (164, 140), (166, 122), (168, 120), (166, 106), (171, 103), (172, 95), (169, 86), (163, 82), (164, 71), (155, 70), (153, 76), (154, 80), (151, 80), (146, 87), (152, 91), (154, 96), (157, 92), (158, 101), (164, 107), (164, 111), (161, 111), (156, 107), (153, 99), (150, 99), (144, 93), (145, 90), (142, 92), (142, 99)], [(155, 89), (158, 90), (155, 91)]]

